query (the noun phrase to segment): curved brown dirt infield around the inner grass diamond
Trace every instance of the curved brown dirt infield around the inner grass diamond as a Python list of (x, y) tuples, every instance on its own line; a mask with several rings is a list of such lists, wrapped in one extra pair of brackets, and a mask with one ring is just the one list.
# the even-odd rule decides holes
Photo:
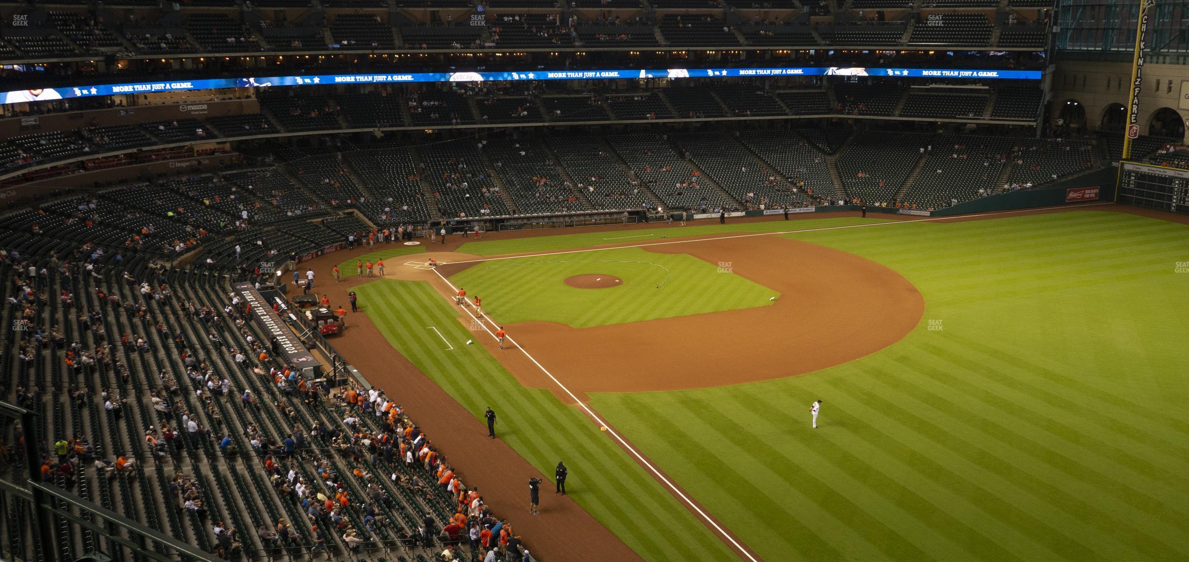
[[(743, 276), (781, 296), (772, 307), (593, 328), (523, 322), (507, 326), (508, 333), (575, 393), (658, 391), (768, 380), (851, 361), (899, 341), (925, 310), (917, 289), (895, 271), (786, 238), (644, 250), (730, 263), (722, 274)], [(515, 355), (499, 359), (522, 384), (573, 402), (534, 365)]]

